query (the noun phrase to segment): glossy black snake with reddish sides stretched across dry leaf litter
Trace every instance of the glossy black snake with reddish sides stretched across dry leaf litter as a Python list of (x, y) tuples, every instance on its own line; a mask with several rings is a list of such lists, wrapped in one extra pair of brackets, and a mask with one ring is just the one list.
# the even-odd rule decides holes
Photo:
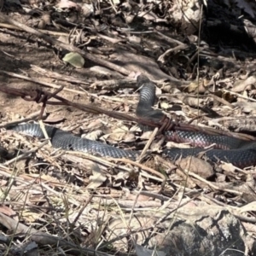
[[(152, 107), (155, 100), (155, 85), (146, 77), (139, 76), (137, 84), (140, 87), (140, 99), (137, 105), (137, 116), (160, 120), (163, 113), (154, 110)], [(15, 125), (9, 129), (21, 131), (27, 135), (44, 138), (44, 133), (38, 124)], [(53, 126), (45, 125), (48, 136), (54, 148), (75, 150), (100, 156), (113, 158), (128, 158), (135, 160), (139, 155), (138, 151), (115, 148), (105, 143), (74, 136), (70, 132), (62, 131)], [(166, 138), (177, 143), (191, 143), (193, 146), (208, 146), (215, 143), (215, 148), (205, 150), (203, 148), (170, 148), (165, 149), (164, 154), (171, 160), (178, 157), (197, 155), (201, 152), (209, 160), (223, 160), (238, 167), (256, 165), (256, 142), (248, 142), (227, 136), (207, 135), (203, 132), (190, 131), (166, 131)]]

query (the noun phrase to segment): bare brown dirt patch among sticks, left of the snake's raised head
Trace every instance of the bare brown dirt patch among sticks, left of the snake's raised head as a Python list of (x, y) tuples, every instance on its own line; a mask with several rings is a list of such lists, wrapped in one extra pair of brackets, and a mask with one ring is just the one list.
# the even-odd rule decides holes
[[(39, 42), (37, 39), (26, 38), (27, 35), (24, 32), (0, 32), (1, 41), (3, 44), (0, 46), (1, 50), (1, 62), (0, 70), (9, 73), (21, 74), (32, 79), (38, 79), (45, 83), (54, 83), (55, 85), (64, 85), (64, 90), (59, 94), (72, 102), (79, 102), (84, 104), (93, 103), (96, 106), (106, 109), (113, 109), (119, 106), (119, 103), (113, 104), (110, 101), (102, 101), (96, 96), (98, 91), (91, 90), (90, 93), (95, 93), (94, 96), (87, 95), (86, 91), (89, 91), (84, 87), (84, 91), (79, 90), (79, 87), (75, 84), (70, 84), (56, 79), (50, 79), (44, 75), (34, 72), (31, 69), (31, 65), (39, 66), (47, 70), (51, 70), (56, 73), (73, 76), (76, 79), (88, 81), (92, 83), (97, 79), (108, 79), (108, 75), (102, 75), (94, 73), (88, 68), (76, 69), (68, 67), (65, 62), (58, 59), (53, 52), (53, 49), (49, 49), (47, 45)], [(25, 88), (27, 90), (43, 89), (47, 91), (54, 91), (50, 87), (43, 87), (40, 84), (26, 81), (24, 79), (17, 79), (12, 75), (9, 76), (6, 73), (0, 73), (0, 79), (2, 86), (8, 85), (14, 88)], [(74, 92), (67, 91), (66, 89), (76, 90)], [(103, 92), (104, 93), (104, 92)], [(22, 117), (26, 117), (32, 113), (40, 110), (40, 105), (35, 102), (27, 102), (16, 96), (9, 96), (0, 92), (0, 112), (2, 121), (7, 121), (7, 117), (10, 120), (17, 120)], [(61, 119), (66, 121), (67, 124), (75, 124), (78, 120), (81, 124), (86, 124), (86, 119), (91, 120), (91, 115), (83, 113), (78, 109), (67, 108), (61, 106), (50, 106), (46, 108), (46, 112), (50, 113), (50, 119)], [(96, 118), (97, 119), (97, 118)], [(85, 126), (85, 125), (84, 125)]]

